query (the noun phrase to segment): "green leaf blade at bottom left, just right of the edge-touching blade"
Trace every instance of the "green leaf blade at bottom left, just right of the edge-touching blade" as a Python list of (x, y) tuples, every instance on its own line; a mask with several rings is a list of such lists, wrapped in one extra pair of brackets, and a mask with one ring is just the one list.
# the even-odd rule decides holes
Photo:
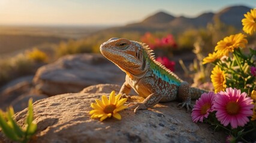
[(9, 107), (9, 110), (7, 110), (7, 118), (8, 118), (8, 121), (10, 122), (10, 125), (11, 127), (13, 128), (13, 131), (14, 133), (16, 133), (16, 135), (19, 137), (19, 138), (23, 138), (23, 136), (25, 135), (24, 132), (22, 132), (22, 129), (20, 128), (19, 125), (17, 125), (16, 122), (14, 122), (12, 116), (14, 114), (14, 110), (13, 110), (13, 107)]

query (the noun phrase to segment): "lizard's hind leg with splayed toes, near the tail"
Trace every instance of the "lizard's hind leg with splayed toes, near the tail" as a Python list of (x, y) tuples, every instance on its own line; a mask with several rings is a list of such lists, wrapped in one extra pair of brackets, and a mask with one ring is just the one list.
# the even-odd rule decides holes
[(179, 103), (178, 106), (186, 107), (187, 111), (189, 110), (189, 108), (193, 108), (193, 105), (191, 104), (191, 93), (188, 82), (182, 82), (180, 84), (177, 94), (178, 98), (182, 100), (182, 102)]

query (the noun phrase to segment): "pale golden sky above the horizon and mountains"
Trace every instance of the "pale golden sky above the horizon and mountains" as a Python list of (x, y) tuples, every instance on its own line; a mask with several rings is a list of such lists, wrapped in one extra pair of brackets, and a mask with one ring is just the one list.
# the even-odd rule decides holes
[(158, 11), (196, 17), (256, 0), (0, 0), (0, 24), (124, 25)]

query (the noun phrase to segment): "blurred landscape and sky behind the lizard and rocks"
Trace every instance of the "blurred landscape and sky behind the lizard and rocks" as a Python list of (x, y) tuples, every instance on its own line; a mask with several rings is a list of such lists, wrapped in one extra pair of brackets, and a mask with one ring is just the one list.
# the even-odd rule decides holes
[[(0, 0), (0, 93), (64, 55), (100, 53), (112, 37), (147, 43), (156, 60), (201, 85), (209, 76), (203, 57), (242, 32), (243, 14), (255, 7), (252, 0)], [(255, 48), (255, 35), (248, 40)]]

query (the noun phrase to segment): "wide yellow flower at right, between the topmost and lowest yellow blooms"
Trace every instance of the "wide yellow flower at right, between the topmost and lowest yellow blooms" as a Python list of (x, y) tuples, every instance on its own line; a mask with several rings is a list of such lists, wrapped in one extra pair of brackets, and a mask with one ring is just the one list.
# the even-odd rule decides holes
[(219, 41), (215, 46), (215, 51), (221, 55), (228, 55), (228, 52), (234, 52), (235, 48), (245, 48), (248, 41), (245, 39), (246, 35), (242, 33), (230, 35)]

